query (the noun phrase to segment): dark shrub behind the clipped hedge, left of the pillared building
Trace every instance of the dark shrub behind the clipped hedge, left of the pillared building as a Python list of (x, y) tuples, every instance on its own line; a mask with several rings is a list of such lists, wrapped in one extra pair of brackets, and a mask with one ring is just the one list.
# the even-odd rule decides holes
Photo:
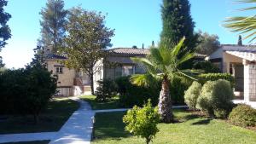
[(197, 61), (193, 64), (193, 69), (203, 70), (205, 73), (218, 73), (219, 68), (212, 64), (210, 61)]

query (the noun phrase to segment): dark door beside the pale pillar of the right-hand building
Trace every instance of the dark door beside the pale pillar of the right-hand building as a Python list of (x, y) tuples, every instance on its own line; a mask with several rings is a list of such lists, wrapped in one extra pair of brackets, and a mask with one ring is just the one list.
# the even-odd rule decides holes
[(241, 91), (243, 92), (243, 65), (241, 64), (238, 64), (238, 65), (235, 65), (235, 83), (236, 83), (236, 86), (235, 86), (235, 91)]

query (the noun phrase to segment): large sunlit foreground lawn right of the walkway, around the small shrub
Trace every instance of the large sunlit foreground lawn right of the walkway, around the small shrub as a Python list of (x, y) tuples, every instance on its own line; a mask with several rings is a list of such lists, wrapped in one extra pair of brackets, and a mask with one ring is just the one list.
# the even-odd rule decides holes
[[(125, 112), (96, 113), (95, 140), (93, 144), (143, 144), (142, 138), (124, 130), (122, 117)], [(227, 124), (223, 120), (199, 118), (189, 112), (174, 112), (180, 123), (159, 124), (160, 132), (153, 143), (175, 144), (255, 144), (256, 132)]]

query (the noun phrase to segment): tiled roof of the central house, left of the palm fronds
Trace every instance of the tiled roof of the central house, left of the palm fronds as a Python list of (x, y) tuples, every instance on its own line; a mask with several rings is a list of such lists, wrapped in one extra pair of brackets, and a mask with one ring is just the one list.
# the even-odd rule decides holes
[(117, 55), (148, 55), (149, 49), (137, 49), (137, 48), (115, 48), (108, 50), (112, 54)]

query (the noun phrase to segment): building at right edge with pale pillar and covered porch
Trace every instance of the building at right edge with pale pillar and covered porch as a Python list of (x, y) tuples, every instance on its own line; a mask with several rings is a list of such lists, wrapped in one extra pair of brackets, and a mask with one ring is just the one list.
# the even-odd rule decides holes
[(256, 46), (224, 44), (207, 60), (222, 72), (230, 73), (236, 81), (235, 102), (247, 103), (256, 108)]

